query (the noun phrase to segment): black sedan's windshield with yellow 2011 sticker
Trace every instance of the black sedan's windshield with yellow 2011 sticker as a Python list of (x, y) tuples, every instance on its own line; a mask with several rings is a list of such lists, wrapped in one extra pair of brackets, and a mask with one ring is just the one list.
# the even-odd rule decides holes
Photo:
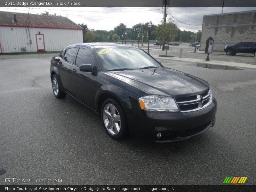
[(95, 48), (105, 71), (162, 67), (146, 52), (130, 47)]

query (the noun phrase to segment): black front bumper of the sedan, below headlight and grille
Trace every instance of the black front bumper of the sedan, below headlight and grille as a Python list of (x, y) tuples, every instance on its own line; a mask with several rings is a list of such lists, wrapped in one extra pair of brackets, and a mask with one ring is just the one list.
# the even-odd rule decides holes
[[(216, 111), (217, 101), (213, 98), (208, 107), (186, 113), (133, 109), (133, 115), (128, 115), (127, 121), (133, 135), (154, 142), (173, 142), (186, 140), (212, 127)], [(158, 132), (162, 134), (160, 138), (156, 137)]]

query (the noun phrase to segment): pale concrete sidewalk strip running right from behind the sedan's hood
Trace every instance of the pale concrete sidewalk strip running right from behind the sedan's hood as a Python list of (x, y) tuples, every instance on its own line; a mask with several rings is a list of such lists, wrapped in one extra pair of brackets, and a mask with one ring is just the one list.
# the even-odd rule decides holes
[(248, 63), (236, 63), (236, 62), (228, 62), (228, 61), (216, 61), (209, 60), (206, 61), (204, 59), (195, 59), (195, 58), (179, 58), (179, 57), (159, 57), (158, 55), (152, 55), (156, 59), (166, 59), (166, 60), (179, 60), (179, 61), (189, 61), (196, 63), (210, 63), (215, 65), (226, 65), (232, 67), (243, 67), (243, 68), (253, 68), (256, 69), (256, 65), (248, 64)]

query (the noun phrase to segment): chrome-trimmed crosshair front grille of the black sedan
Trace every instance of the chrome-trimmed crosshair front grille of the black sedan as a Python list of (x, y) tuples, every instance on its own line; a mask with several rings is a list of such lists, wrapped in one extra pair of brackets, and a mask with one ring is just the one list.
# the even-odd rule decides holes
[(211, 90), (190, 97), (175, 98), (181, 112), (196, 111), (209, 106), (212, 103)]

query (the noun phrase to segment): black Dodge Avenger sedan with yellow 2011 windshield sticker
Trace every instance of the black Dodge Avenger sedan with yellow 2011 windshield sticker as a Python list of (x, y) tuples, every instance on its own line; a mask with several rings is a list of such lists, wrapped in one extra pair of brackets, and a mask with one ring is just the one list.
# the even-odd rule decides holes
[(127, 133), (155, 142), (185, 140), (215, 123), (209, 84), (164, 67), (143, 50), (119, 44), (66, 47), (51, 60), (52, 89), (100, 114), (114, 139)]

